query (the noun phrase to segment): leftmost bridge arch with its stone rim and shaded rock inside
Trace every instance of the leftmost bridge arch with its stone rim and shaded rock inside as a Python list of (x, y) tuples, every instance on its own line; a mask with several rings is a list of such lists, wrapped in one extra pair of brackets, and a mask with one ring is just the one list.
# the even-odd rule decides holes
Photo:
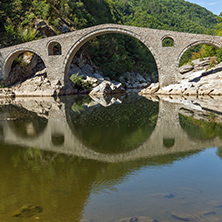
[(46, 65), (42, 57), (32, 50), (12, 53), (4, 64), (4, 85), (12, 86), (34, 75), (46, 75)]

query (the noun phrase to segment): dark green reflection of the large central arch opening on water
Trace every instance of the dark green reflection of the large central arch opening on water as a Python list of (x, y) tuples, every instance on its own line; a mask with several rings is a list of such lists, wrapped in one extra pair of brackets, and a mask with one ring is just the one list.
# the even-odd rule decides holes
[[(82, 104), (84, 104), (84, 100)], [(138, 148), (152, 134), (158, 103), (126, 96), (119, 104), (68, 108), (69, 126), (82, 143), (101, 153), (124, 153)]]

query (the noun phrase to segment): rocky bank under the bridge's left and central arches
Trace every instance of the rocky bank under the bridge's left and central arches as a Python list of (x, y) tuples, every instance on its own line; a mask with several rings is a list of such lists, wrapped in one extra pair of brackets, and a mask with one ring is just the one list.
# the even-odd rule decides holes
[(126, 89), (141, 89), (151, 83), (148, 74), (126, 72), (120, 78), (111, 80), (104, 77), (91, 60), (75, 58), (69, 70), (70, 84), (65, 87), (61, 81), (50, 81), (41, 59), (33, 53), (26, 52), (19, 57), (2, 81), (7, 86), (0, 89), (0, 97), (45, 97), (70, 94), (89, 94), (90, 96), (112, 95), (125, 92)]

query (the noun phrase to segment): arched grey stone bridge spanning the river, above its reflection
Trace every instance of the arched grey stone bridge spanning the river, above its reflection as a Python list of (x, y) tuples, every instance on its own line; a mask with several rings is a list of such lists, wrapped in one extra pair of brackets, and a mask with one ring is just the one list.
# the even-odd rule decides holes
[[(76, 52), (90, 39), (108, 33), (120, 33), (141, 41), (152, 53), (158, 68), (161, 86), (177, 83), (181, 75), (178, 71), (183, 53), (198, 44), (222, 47), (222, 37), (155, 30), (117, 24), (103, 24), (67, 34), (40, 39), (0, 50), (0, 78), (6, 79), (13, 60), (22, 52), (31, 51), (40, 56), (45, 63), (50, 80), (59, 79), (65, 86), (69, 83), (69, 67)], [(172, 47), (163, 47), (163, 40), (173, 40)], [(53, 47), (59, 45), (60, 55), (54, 55)]]

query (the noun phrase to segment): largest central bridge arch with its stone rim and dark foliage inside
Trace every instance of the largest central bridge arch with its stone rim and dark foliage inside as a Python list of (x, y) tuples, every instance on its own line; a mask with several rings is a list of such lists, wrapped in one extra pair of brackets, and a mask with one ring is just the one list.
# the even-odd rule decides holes
[(81, 72), (84, 76), (84, 65), (91, 66), (90, 73), (97, 72), (116, 81), (126, 72), (140, 72), (149, 75), (150, 82), (157, 82), (158, 64), (152, 47), (136, 34), (125, 30), (99, 30), (70, 49), (64, 62), (65, 82), (69, 82), (73, 74)]

